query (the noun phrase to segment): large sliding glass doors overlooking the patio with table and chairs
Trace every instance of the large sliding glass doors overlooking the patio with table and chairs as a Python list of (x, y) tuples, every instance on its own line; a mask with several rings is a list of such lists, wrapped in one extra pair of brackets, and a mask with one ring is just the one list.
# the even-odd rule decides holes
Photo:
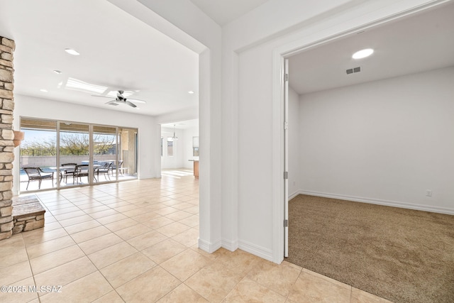
[(137, 129), (21, 118), (20, 192), (137, 177)]

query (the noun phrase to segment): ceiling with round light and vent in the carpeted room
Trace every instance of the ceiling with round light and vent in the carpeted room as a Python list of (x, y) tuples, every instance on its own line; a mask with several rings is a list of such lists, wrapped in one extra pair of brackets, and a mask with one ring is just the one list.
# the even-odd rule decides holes
[[(454, 65), (454, 3), (341, 38), (289, 58), (289, 85), (317, 92)], [(357, 50), (370, 57), (353, 60)], [(361, 67), (347, 75), (345, 70)]]

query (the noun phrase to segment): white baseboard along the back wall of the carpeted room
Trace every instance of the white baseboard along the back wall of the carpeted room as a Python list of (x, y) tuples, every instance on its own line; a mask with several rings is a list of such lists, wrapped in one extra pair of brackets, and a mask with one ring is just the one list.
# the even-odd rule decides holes
[(363, 202), (363, 203), (370, 203), (370, 204), (377, 204), (377, 205), (384, 205), (384, 206), (394, 206), (394, 207), (400, 207), (402, 209), (416, 209), (419, 211), (431, 211), (431, 212), (436, 212), (436, 213), (440, 213), (440, 214), (454, 214), (454, 209), (448, 209), (445, 207), (438, 207), (438, 206), (411, 204), (411, 203), (397, 202), (397, 201), (391, 201), (391, 200), (355, 197), (355, 196), (347, 196), (347, 195), (343, 195), (343, 194), (331, 194), (331, 193), (326, 193), (326, 192), (313, 192), (310, 190), (300, 190), (298, 192), (298, 194), (309, 194), (310, 196), (317, 196), (317, 197), (349, 200), (349, 201)]

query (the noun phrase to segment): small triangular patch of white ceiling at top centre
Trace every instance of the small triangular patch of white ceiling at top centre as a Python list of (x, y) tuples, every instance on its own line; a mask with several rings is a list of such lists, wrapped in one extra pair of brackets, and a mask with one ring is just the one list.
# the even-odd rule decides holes
[(191, 0), (206, 15), (223, 26), (268, 0)]

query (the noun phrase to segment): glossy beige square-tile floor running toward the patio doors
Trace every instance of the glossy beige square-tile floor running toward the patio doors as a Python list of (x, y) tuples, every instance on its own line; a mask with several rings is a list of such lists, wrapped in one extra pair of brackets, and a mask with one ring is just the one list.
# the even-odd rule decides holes
[(0, 285), (16, 286), (0, 302), (387, 302), (285, 261), (199, 250), (188, 172), (38, 196), (45, 228), (0, 241)]

